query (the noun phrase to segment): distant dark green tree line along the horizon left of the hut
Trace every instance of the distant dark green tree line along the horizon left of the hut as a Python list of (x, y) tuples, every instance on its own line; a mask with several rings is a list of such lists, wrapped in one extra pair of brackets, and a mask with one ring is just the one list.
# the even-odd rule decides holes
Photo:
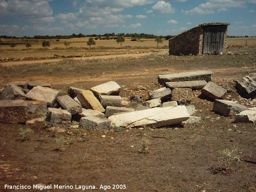
[[(84, 35), (82, 33), (79, 34), (75, 34), (73, 33), (72, 35), (56, 35), (56, 36), (49, 36), (49, 35), (36, 35), (34, 37), (29, 37), (29, 36), (23, 36), (23, 37), (16, 37), (16, 36), (6, 36), (6, 35), (2, 35), (0, 36), (0, 38), (4, 38), (4, 39), (18, 39), (18, 38), (23, 38), (23, 39), (70, 39), (70, 38), (79, 38), (79, 37), (95, 37), (94, 39), (116, 39), (117, 36), (123, 36), (123, 37), (131, 37), (131, 38), (143, 38), (143, 39), (154, 39), (156, 38), (156, 35), (153, 34), (146, 34), (146, 33), (105, 33), (103, 35), (96, 35), (96, 34), (92, 34), (92, 35)], [(167, 36), (160, 36), (160, 38), (165, 38), (165, 39), (170, 39), (174, 36), (171, 35), (167, 35)]]

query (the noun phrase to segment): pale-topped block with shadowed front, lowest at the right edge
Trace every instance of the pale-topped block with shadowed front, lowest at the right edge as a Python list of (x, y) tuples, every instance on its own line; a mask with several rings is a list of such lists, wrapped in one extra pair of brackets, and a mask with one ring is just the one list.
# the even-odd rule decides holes
[(236, 122), (255, 123), (256, 122), (256, 107), (248, 108), (236, 114)]

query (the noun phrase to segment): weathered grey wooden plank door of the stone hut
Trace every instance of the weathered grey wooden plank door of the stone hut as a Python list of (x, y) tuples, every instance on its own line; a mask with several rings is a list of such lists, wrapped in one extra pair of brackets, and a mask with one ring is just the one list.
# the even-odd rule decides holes
[(204, 27), (203, 54), (207, 52), (223, 52), (224, 26)]

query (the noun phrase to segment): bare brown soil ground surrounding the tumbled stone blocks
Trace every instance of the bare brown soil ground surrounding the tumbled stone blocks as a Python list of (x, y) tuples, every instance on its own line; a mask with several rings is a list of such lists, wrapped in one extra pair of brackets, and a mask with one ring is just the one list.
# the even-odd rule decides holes
[[(158, 52), (138, 58), (66, 59), (0, 67), (0, 87), (12, 81), (36, 80), (52, 83), (66, 94), (68, 86), (89, 89), (112, 80), (122, 87), (120, 96), (140, 94), (147, 99), (149, 91), (159, 88), (158, 75), (207, 69), (212, 70), (214, 83), (235, 90), (235, 80), (256, 72), (256, 48), (228, 51), (241, 55), (176, 57)], [(214, 113), (213, 101), (200, 96), (200, 91), (194, 95), (191, 104), (202, 121), (184, 126), (105, 131), (70, 128), (63, 133), (34, 127), (24, 140), (20, 128), (28, 128), (26, 125), (0, 124), (0, 191), (12, 191), (4, 189), (4, 184), (39, 183), (97, 188), (85, 191), (103, 191), (100, 185), (110, 185), (106, 191), (256, 191), (256, 164), (237, 161), (239, 157), (256, 161), (255, 124), (234, 123), (234, 118)], [(241, 99), (236, 91), (227, 97), (256, 105)], [(65, 150), (56, 150), (61, 144)], [(148, 153), (139, 152), (143, 147)], [(126, 189), (113, 189), (112, 185), (126, 185)]]

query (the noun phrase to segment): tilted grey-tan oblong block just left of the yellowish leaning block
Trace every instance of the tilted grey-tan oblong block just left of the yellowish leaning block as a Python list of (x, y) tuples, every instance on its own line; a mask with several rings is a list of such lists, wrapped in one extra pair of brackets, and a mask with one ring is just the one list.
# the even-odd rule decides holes
[(82, 113), (82, 107), (68, 95), (59, 96), (56, 101), (62, 109), (66, 109), (71, 115)]

